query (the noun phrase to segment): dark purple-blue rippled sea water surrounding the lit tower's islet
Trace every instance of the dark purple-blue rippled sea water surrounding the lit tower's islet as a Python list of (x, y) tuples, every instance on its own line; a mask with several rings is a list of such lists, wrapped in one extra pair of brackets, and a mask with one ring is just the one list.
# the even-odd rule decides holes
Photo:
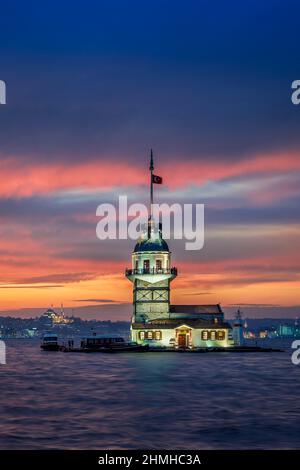
[(284, 353), (203, 354), (6, 346), (1, 449), (299, 448), (290, 344)]

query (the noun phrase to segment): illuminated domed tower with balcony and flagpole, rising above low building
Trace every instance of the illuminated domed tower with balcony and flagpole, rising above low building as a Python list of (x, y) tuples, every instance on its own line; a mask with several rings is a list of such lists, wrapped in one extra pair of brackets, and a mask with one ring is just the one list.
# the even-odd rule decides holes
[(171, 252), (162, 238), (162, 227), (155, 226), (153, 205), (153, 152), (150, 156), (150, 215), (148, 227), (142, 233), (132, 253), (132, 266), (126, 277), (133, 283), (132, 323), (169, 318), (170, 282), (177, 276), (171, 267)]

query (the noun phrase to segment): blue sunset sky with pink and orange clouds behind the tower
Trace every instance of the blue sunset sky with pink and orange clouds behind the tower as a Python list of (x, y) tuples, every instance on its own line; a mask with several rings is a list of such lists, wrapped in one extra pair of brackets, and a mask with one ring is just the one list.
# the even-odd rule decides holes
[(300, 305), (299, 13), (1, 4), (0, 310), (131, 302), (134, 242), (98, 240), (96, 208), (147, 203), (151, 147), (156, 199), (205, 204), (204, 248), (169, 242), (172, 302)]

